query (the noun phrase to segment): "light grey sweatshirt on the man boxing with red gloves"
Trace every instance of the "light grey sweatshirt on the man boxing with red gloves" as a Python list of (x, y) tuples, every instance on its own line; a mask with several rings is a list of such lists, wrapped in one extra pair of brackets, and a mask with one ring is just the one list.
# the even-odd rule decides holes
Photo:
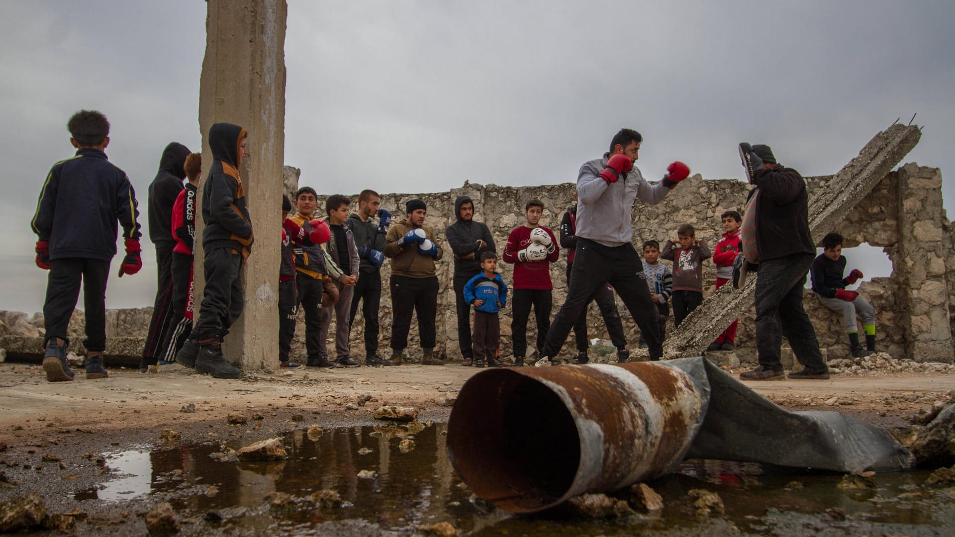
[(650, 184), (634, 166), (617, 183), (607, 184), (604, 171), (610, 154), (603, 159), (584, 162), (577, 176), (577, 236), (605, 247), (626, 245), (633, 239), (633, 202), (659, 204), (667, 197), (664, 183)]

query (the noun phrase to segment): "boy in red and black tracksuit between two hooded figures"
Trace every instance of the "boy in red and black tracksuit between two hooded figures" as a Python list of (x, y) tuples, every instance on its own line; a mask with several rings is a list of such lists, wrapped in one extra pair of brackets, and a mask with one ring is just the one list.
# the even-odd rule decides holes
[[(176, 354), (192, 334), (192, 251), (196, 243), (196, 190), (202, 177), (202, 153), (189, 154), (182, 167), (189, 181), (185, 183), (185, 188), (180, 191), (176, 203), (173, 204), (171, 221), (172, 235), (176, 240), (172, 259), (172, 317), (176, 324), (169, 344), (164, 352), (159, 354), (160, 363), (176, 361)], [(198, 345), (198, 342), (194, 343)], [(146, 373), (148, 368), (143, 371), (140, 367), (139, 371)]]

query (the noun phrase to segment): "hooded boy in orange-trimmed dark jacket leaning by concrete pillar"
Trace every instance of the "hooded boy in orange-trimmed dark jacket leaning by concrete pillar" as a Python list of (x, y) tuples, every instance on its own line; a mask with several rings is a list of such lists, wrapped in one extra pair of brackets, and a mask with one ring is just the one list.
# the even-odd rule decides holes
[(244, 128), (231, 123), (216, 123), (209, 128), (209, 149), (214, 161), (202, 185), (205, 290), (199, 322), (193, 329), (195, 336), (190, 336), (176, 355), (180, 364), (216, 378), (242, 375), (239, 368), (225, 361), (222, 344), (229, 327), (242, 314), (244, 292), (239, 269), (254, 241), (239, 176), (247, 134)]

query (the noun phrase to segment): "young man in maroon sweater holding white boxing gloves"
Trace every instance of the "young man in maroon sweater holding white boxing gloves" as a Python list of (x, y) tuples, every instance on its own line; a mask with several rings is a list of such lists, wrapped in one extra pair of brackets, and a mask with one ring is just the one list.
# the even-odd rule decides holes
[(543, 203), (531, 200), (524, 205), (527, 223), (515, 227), (507, 237), (504, 262), (514, 264), (514, 294), (511, 298), (511, 337), (514, 346), (514, 365), (524, 365), (527, 354), (527, 319), (534, 306), (537, 319), (537, 350), (541, 353), (550, 330), (550, 310), (554, 289), (550, 281), (550, 264), (561, 257), (557, 238), (550, 229), (539, 226)]

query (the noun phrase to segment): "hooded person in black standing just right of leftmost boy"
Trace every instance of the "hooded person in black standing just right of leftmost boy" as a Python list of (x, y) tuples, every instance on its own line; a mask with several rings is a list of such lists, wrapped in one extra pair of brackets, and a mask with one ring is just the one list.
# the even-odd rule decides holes
[(146, 345), (139, 360), (142, 373), (158, 363), (180, 320), (173, 314), (173, 247), (176, 247), (176, 238), (172, 216), (173, 205), (183, 188), (185, 158), (189, 153), (189, 148), (179, 142), (166, 145), (159, 159), (159, 172), (149, 185), (149, 240), (156, 245), (157, 289)]

